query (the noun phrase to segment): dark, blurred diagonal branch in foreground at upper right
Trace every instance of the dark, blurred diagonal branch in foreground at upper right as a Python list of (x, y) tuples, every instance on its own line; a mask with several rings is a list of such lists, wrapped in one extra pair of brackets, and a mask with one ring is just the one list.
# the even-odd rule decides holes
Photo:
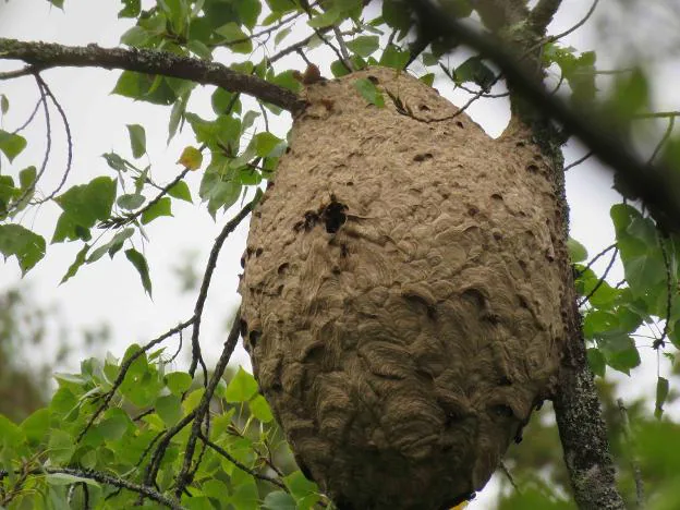
[(546, 117), (562, 123), (578, 136), (603, 162), (611, 167), (626, 189), (635, 190), (652, 217), (667, 231), (680, 232), (680, 197), (667, 175), (667, 169), (643, 161), (630, 144), (607, 127), (600, 118), (568, 106), (562, 99), (546, 90), (543, 83), (529, 75), (519, 60), (488, 34), (482, 34), (458, 22), (434, 7), (429, 0), (418, 3), (427, 12), (428, 23), (439, 32), (448, 31), (460, 40), (494, 60), (517, 93), (526, 97)]

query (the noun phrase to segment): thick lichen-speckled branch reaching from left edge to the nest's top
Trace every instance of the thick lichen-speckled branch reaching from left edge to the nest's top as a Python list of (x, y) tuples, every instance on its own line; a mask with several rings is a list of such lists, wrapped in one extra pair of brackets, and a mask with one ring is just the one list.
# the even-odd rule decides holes
[[(257, 76), (239, 73), (217, 62), (180, 57), (165, 51), (100, 48), (97, 45), (62, 46), (0, 38), (0, 59), (21, 60), (29, 64), (33, 72), (71, 66), (160, 74), (191, 80), (202, 85), (215, 85), (232, 93), (248, 94), (292, 113), (305, 107), (305, 102), (293, 92)], [(10, 72), (5, 77), (15, 77), (15, 74)]]

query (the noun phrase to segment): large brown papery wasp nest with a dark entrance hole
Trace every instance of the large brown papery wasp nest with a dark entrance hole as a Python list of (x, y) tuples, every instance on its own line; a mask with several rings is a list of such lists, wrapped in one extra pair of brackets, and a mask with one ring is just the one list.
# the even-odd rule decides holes
[(255, 375), (340, 508), (451, 506), (486, 484), (555, 385), (548, 167), (522, 129), (493, 139), (404, 73), (306, 94), (244, 255)]

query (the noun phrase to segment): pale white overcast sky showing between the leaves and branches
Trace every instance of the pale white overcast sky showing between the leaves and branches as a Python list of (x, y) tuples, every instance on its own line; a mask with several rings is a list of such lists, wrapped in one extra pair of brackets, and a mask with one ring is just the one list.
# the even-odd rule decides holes
[[(551, 33), (559, 33), (572, 26), (590, 5), (590, 1), (564, 0), (559, 16), (551, 25)], [(50, 8), (46, 0), (11, 0), (7, 4), (0, 0), (0, 36), (66, 45), (97, 42), (105, 47), (117, 46), (120, 35), (131, 25), (127, 20), (117, 19), (119, 9), (120, 2), (113, 0), (66, 0), (64, 13)], [(603, 48), (598, 47), (600, 42), (597, 34), (594, 33), (596, 26), (595, 23), (587, 24), (568, 36), (566, 42), (580, 50), (598, 49), (598, 58), (602, 61), (604, 53)], [(302, 36), (294, 32), (286, 41), (300, 38)], [(312, 59), (318, 63), (325, 62), (325, 74), (330, 75), (327, 68), (329, 60), (323, 50), (312, 53)], [(300, 59), (292, 58), (290, 62), (291, 66), (301, 66)], [(16, 69), (17, 65), (0, 61), (0, 71)], [(418, 71), (418, 68), (415, 70)], [(424, 73), (424, 70), (420, 71), (421, 74)], [(663, 63), (656, 71), (665, 78), (659, 83), (666, 80), (666, 83), (677, 83), (680, 74), (678, 65), (672, 63)], [(73, 132), (73, 170), (64, 190), (73, 184), (88, 182), (99, 174), (112, 175), (100, 157), (102, 153), (117, 151), (123, 157), (132, 157), (125, 124), (139, 123), (145, 126), (149, 162), (153, 165), (153, 175), (158, 182), (169, 182), (181, 170), (174, 161), (182, 148), (192, 143), (191, 129), (186, 126), (184, 134), (167, 147), (169, 108), (133, 102), (120, 96), (109, 95), (119, 73), (94, 69), (62, 69), (50, 70), (42, 74), (63, 106)], [(448, 94), (449, 87), (445, 88), (444, 83), (436, 83), (435, 86), (438, 86), (445, 96), (452, 97), (453, 102), (460, 105), (467, 99), (463, 93)], [(207, 87), (203, 92), (195, 92), (190, 109), (204, 117), (211, 117), (209, 94), (212, 89)], [(23, 77), (0, 82), (0, 94), (5, 94), (10, 99), (10, 112), (3, 119), (2, 127), (11, 131), (21, 124), (33, 109), (38, 98), (37, 87), (33, 78)], [(498, 135), (508, 118), (507, 105), (502, 101), (498, 99), (477, 101), (467, 113), (491, 135)], [(657, 88), (656, 101), (659, 109), (680, 109), (678, 108), (680, 89), (676, 90), (670, 85)], [(51, 117), (54, 142), (47, 177), (40, 186), (45, 191), (50, 191), (58, 181), (65, 161), (63, 130), (56, 112), (52, 112)], [(270, 116), (270, 121), (274, 121), (275, 132), (283, 135), (288, 130), (290, 118), (287, 114), (280, 118)], [(16, 173), (19, 169), (28, 165), (39, 167), (44, 151), (44, 127), (40, 118), (24, 135), (29, 141), (28, 149), (11, 167), (3, 161), (2, 173), (8, 172), (8, 168), (10, 173)], [(566, 147), (568, 161), (578, 159), (583, 154), (584, 149), (575, 144)], [(195, 198), (199, 179), (201, 172), (191, 173), (189, 177), (189, 184)], [(572, 236), (583, 242), (592, 255), (598, 253), (614, 239), (609, 207), (620, 202), (617, 194), (610, 190), (611, 177), (596, 162), (588, 160), (570, 170), (567, 182)], [(120, 356), (130, 343), (144, 343), (191, 316), (195, 293), (180, 295), (172, 267), (181, 263), (183, 253), (197, 252), (199, 254), (196, 259), (197, 269), (202, 272), (215, 236), (238, 210), (234, 208), (226, 216), (218, 214), (217, 222), (214, 222), (205, 206), (198, 203), (191, 205), (173, 201), (172, 207), (174, 218), (157, 219), (146, 228), (151, 241), (144, 246), (144, 253), (151, 268), (154, 301), (144, 294), (136, 271), (122, 254), (112, 262), (105, 257), (93, 266), (82, 267), (75, 278), (57, 287), (80, 250), (81, 245), (76, 243), (48, 245), (46, 258), (23, 281), (15, 259), (0, 265), (0, 289), (28, 286), (37, 303), (41, 305), (57, 303), (60, 318), (73, 330), (92, 328), (102, 321), (110, 324), (112, 338), (106, 349)], [(59, 212), (57, 206), (48, 204), (37, 211), (27, 212), (21, 221), (41, 233), (49, 242)], [(241, 270), (239, 260), (245, 246), (246, 233), (246, 224), (243, 224), (229, 238), (212, 279), (202, 327), (202, 344), (209, 360), (215, 360), (220, 352), (227, 335), (227, 320), (240, 301), (235, 289)], [(136, 242), (136, 247), (139, 246), (141, 244)], [(606, 264), (606, 260), (604, 263)], [(620, 268), (616, 270), (610, 278), (611, 281), (618, 281), (621, 277)], [(185, 348), (189, 337), (189, 333), (185, 335)], [(171, 341), (168, 345), (169, 351), (172, 351), (177, 343)], [(656, 377), (656, 356), (648, 349), (642, 350), (642, 353), (645, 363), (644, 384), (636, 379), (635, 387), (652, 398)], [(85, 354), (76, 352), (73, 362), (77, 362)], [(42, 355), (50, 353), (46, 351)], [(236, 353), (235, 360), (247, 364), (243, 350)], [(664, 373), (668, 375), (667, 365), (663, 365), (661, 375)], [(629, 391), (632, 385), (626, 385), (623, 388), (624, 391)], [(474, 507), (484, 508), (484, 499), (482, 498)]]

